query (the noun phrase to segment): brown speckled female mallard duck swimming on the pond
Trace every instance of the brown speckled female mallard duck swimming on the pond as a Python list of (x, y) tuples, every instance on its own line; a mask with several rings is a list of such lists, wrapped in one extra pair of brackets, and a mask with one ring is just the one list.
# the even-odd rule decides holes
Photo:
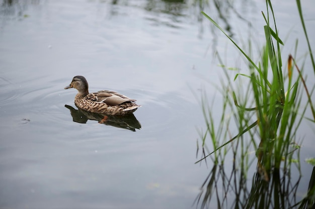
[(70, 85), (64, 87), (64, 89), (69, 88), (75, 88), (78, 91), (74, 98), (74, 104), (89, 112), (127, 115), (141, 107), (134, 103), (136, 100), (113, 91), (103, 90), (90, 94), (88, 81), (83, 76), (75, 76)]

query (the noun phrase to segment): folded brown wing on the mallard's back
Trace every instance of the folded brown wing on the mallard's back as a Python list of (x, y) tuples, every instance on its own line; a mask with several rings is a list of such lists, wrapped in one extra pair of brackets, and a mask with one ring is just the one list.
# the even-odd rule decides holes
[(136, 100), (130, 99), (122, 94), (119, 94), (117, 92), (113, 91), (99, 91), (97, 93), (93, 93), (94, 95), (94, 101), (95, 102), (100, 102), (100, 103), (105, 103), (110, 106), (115, 106), (115, 105), (120, 105), (124, 102), (134, 102)]

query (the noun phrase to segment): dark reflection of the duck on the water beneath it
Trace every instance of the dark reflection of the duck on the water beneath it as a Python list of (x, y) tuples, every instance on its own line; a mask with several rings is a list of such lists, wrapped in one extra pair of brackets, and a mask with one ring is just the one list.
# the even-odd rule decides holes
[(133, 113), (126, 116), (114, 116), (88, 112), (80, 108), (75, 109), (69, 105), (64, 106), (70, 110), (73, 121), (77, 123), (87, 123), (88, 120), (96, 120), (99, 123), (105, 125), (111, 125), (117, 128), (125, 128), (131, 131), (136, 131), (135, 129), (141, 128), (140, 122), (136, 119)]

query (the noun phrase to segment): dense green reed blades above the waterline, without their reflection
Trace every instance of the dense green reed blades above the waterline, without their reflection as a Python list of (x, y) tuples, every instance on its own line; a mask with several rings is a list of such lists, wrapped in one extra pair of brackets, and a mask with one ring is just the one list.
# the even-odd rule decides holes
[[(279, 169), (283, 156), (286, 156), (288, 150), (287, 145), (293, 142), (291, 132), (295, 133), (297, 128), (293, 125), (295, 124), (294, 122), (296, 120), (296, 114), (300, 108), (301, 97), (296, 100), (296, 96), (298, 93), (298, 84), (301, 77), (298, 76), (294, 82), (289, 79), (288, 86), (286, 88), (287, 93), (285, 96), (280, 49), (280, 45), (283, 45), (283, 42), (278, 36), (272, 5), (270, 1), (266, 1), (266, 3), (267, 15), (262, 13), (266, 22), (266, 25), (264, 26), (266, 45), (263, 49), (262, 60), (258, 64), (255, 64), (251, 56), (248, 55), (237, 43), (235, 43), (232, 38), (230, 38), (224, 32), (224, 30), (216, 24), (214, 20), (203, 13), (203, 15), (208, 20), (210, 20), (210, 22), (214, 24), (234, 44), (234, 46), (238, 48), (238, 50), (249, 62), (248, 66), (250, 74), (237, 74), (234, 80), (237, 80), (238, 76), (250, 79), (251, 93), (254, 98), (255, 107), (246, 107), (246, 105), (240, 105), (240, 100), (237, 94), (235, 94), (235, 91), (232, 91), (232, 97), (235, 106), (238, 107), (238, 110), (235, 111), (235, 113), (241, 114), (243, 113), (242, 111), (254, 111), (257, 120), (251, 124), (248, 124), (247, 127), (242, 127), (242, 129), (239, 131), (239, 134), (235, 135), (222, 145), (217, 146), (216, 144), (214, 151), (204, 156), (202, 159), (205, 159), (207, 156), (215, 153), (217, 150), (224, 147), (233, 140), (240, 138), (252, 128), (258, 127), (258, 137), (253, 135), (254, 137), (252, 138), (253, 142), (256, 142), (256, 138), (260, 138), (260, 145), (257, 150), (257, 155), (259, 157), (258, 159), (263, 161), (263, 164), (261, 165), (264, 165), (264, 169), (270, 170), (272, 167)], [(270, 25), (271, 18), (273, 20), (275, 31), (272, 30)], [(268, 76), (269, 69), (271, 69), (272, 72), (271, 79)], [(292, 83), (293, 85), (291, 85)], [(249, 93), (247, 93), (247, 95), (249, 95)], [(224, 98), (226, 99), (227, 96)], [(224, 104), (225, 103), (227, 103), (227, 101), (225, 101)], [(205, 108), (203, 107), (203, 111), (204, 110)], [(241, 117), (239, 119), (239, 124), (242, 124), (243, 120), (245, 120), (245, 118)], [(246, 121), (250, 120), (247, 119)], [(207, 126), (210, 126), (211, 123), (213, 123), (213, 120), (211, 120), (210, 124)], [(215, 136), (212, 135), (212, 141), (214, 140), (213, 137)], [(216, 137), (215, 139), (217, 140), (219, 138)]]

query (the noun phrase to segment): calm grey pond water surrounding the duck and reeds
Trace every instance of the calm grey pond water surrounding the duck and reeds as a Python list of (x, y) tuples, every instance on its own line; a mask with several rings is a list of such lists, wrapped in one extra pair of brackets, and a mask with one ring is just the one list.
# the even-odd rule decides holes
[[(200, 11), (236, 40), (252, 31), (260, 42), (265, 4), (0, 2), (0, 208), (191, 208), (209, 172), (194, 164), (197, 129), (204, 127), (199, 91), (211, 98), (209, 83), (220, 84), (214, 51), (242, 66)], [(315, 5), (303, 4), (311, 25)], [(305, 53), (295, 2), (274, 7), (283, 36), (291, 33), (287, 42), (300, 37), (298, 52)], [(141, 128), (72, 118), (76, 90), (63, 88), (76, 75), (87, 78), (90, 92), (136, 99)], [(301, 159), (315, 146), (306, 127)], [(301, 192), (311, 166), (302, 168)]]

